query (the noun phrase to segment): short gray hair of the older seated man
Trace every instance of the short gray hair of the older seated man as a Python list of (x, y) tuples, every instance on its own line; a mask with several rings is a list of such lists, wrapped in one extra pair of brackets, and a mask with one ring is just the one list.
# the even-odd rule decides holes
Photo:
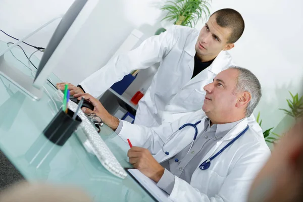
[(251, 99), (247, 105), (245, 113), (245, 116), (249, 117), (252, 112), (254, 112), (261, 99), (261, 84), (255, 74), (250, 72), (248, 69), (237, 66), (230, 66), (229, 69), (236, 69), (239, 72), (235, 92), (246, 91), (251, 94)]

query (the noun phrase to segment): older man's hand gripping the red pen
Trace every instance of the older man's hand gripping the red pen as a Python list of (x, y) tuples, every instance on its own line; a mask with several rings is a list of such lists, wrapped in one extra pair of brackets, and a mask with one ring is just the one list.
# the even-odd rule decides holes
[(127, 156), (129, 157), (129, 163), (134, 168), (155, 182), (159, 182), (164, 173), (164, 168), (151, 156), (148, 149), (133, 146), (128, 150)]

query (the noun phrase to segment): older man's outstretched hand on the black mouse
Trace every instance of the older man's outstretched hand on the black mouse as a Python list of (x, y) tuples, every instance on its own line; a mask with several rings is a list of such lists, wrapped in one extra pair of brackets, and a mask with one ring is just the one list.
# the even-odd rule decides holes
[(98, 117), (100, 117), (106, 125), (108, 125), (110, 128), (113, 130), (116, 130), (118, 125), (119, 125), (119, 119), (112, 116), (104, 107), (103, 105), (94, 98), (92, 95), (88, 93), (79, 93), (79, 94), (74, 94), (74, 97), (77, 97), (79, 100), (81, 97), (84, 97), (89, 103), (91, 103), (94, 107), (93, 111), (91, 111), (88, 108), (81, 108), (81, 110), (85, 114), (90, 114), (90, 113), (95, 113)]

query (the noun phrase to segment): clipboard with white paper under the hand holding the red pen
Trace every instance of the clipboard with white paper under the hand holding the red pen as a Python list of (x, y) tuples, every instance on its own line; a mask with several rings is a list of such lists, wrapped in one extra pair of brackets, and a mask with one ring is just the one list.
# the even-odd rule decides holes
[(148, 193), (148, 195), (158, 202), (168, 202), (169, 195), (160, 189), (156, 182), (149, 179), (145, 175), (143, 175), (139, 170), (135, 168), (124, 168), (125, 171), (131, 176), (133, 180), (135, 180), (143, 189)]

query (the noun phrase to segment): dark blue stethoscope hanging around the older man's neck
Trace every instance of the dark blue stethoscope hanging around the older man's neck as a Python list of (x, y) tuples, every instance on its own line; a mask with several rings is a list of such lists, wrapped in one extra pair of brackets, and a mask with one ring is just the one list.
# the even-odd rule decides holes
[[(192, 123), (186, 123), (184, 125), (182, 125), (177, 131), (175, 131), (173, 134), (171, 134), (167, 139), (166, 141), (164, 142), (163, 146), (162, 146), (162, 151), (166, 154), (166, 155), (169, 155), (169, 152), (168, 151), (164, 151), (163, 147), (165, 146), (166, 142), (170, 139), (170, 137), (172, 135), (174, 135), (176, 132), (180, 131), (181, 129), (185, 128), (186, 126), (191, 126), (194, 128), (194, 136), (193, 136), (193, 139), (192, 139), (192, 142), (191, 142), (191, 145), (190, 145), (190, 148), (188, 149), (186, 155), (189, 153), (189, 151), (191, 150), (192, 148), (192, 145), (194, 143), (194, 140), (196, 139), (197, 137), (197, 134), (198, 134), (198, 129), (197, 129), (197, 125), (201, 122), (198, 121), (196, 122), (195, 124), (192, 124)], [(232, 143), (234, 143), (234, 141), (236, 141), (239, 137), (241, 137), (247, 130), (248, 130), (249, 126), (247, 125), (246, 128), (240, 133), (238, 134), (235, 138), (233, 138), (230, 142), (228, 142), (228, 144), (226, 144), (222, 149), (220, 149), (214, 156), (212, 156), (211, 158), (209, 158), (208, 160), (204, 161), (203, 163), (201, 163), (199, 165), (199, 168), (201, 170), (207, 170), (210, 166), (211, 166), (211, 161), (214, 160), (218, 155), (220, 155), (227, 147), (229, 147)], [(205, 131), (205, 130), (204, 130)], [(178, 159), (175, 159), (175, 162), (178, 162), (180, 163), (181, 161), (179, 161)]]

